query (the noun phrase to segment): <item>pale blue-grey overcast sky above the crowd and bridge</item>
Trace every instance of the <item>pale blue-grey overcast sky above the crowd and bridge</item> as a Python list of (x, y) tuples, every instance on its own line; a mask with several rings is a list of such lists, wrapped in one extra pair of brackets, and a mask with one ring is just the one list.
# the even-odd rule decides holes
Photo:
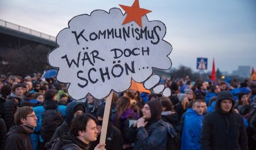
[[(109, 11), (119, 4), (131, 6), (134, 0), (0, 0), (0, 19), (56, 36), (68, 27), (73, 16), (93, 10)], [(191, 67), (196, 58), (208, 58), (208, 70), (215, 67), (232, 73), (239, 65), (256, 69), (255, 0), (140, 0), (152, 10), (149, 20), (166, 24), (164, 37), (172, 44), (172, 66)], [(122, 10), (123, 11), (123, 10)]]

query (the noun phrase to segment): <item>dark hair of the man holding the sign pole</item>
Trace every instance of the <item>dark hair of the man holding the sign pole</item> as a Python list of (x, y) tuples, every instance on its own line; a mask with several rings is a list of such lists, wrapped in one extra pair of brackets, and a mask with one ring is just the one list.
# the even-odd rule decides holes
[(90, 119), (94, 120), (95, 123), (97, 122), (97, 119), (90, 114), (77, 115), (72, 119), (69, 130), (70, 134), (79, 136), (79, 131), (86, 131), (86, 126)]

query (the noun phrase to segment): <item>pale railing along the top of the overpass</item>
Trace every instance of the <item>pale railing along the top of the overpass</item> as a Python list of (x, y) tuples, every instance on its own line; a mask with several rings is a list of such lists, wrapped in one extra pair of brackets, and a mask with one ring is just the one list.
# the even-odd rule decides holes
[(38, 32), (35, 30), (31, 30), (30, 28), (19, 26), (18, 24), (6, 22), (5, 20), (2, 20), (2, 19), (0, 19), (0, 26), (3, 26), (5, 28), (10, 28), (11, 30), (23, 32), (25, 34), (38, 36), (40, 38), (51, 40), (51, 41), (55, 41), (56, 39), (54, 36), (43, 34), (42, 32)]

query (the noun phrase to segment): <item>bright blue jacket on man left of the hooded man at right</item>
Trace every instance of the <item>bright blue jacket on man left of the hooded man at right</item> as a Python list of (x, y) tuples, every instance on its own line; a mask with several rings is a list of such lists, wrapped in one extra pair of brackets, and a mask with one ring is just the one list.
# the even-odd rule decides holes
[(197, 114), (195, 110), (187, 110), (182, 131), (181, 150), (201, 149), (200, 136), (203, 119), (204, 116)]

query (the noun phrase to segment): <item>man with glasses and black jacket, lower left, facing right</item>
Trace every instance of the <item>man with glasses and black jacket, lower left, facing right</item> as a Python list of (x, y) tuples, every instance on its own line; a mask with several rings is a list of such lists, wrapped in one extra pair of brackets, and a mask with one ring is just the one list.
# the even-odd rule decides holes
[(19, 108), (14, 114), (15, 126), (11, 127), (10, 131), (6, 134), (5, 149), (32, 150), (30, 134), (34, 132), (37, 119), (34, 110), (30, 107), (24, 106)]

